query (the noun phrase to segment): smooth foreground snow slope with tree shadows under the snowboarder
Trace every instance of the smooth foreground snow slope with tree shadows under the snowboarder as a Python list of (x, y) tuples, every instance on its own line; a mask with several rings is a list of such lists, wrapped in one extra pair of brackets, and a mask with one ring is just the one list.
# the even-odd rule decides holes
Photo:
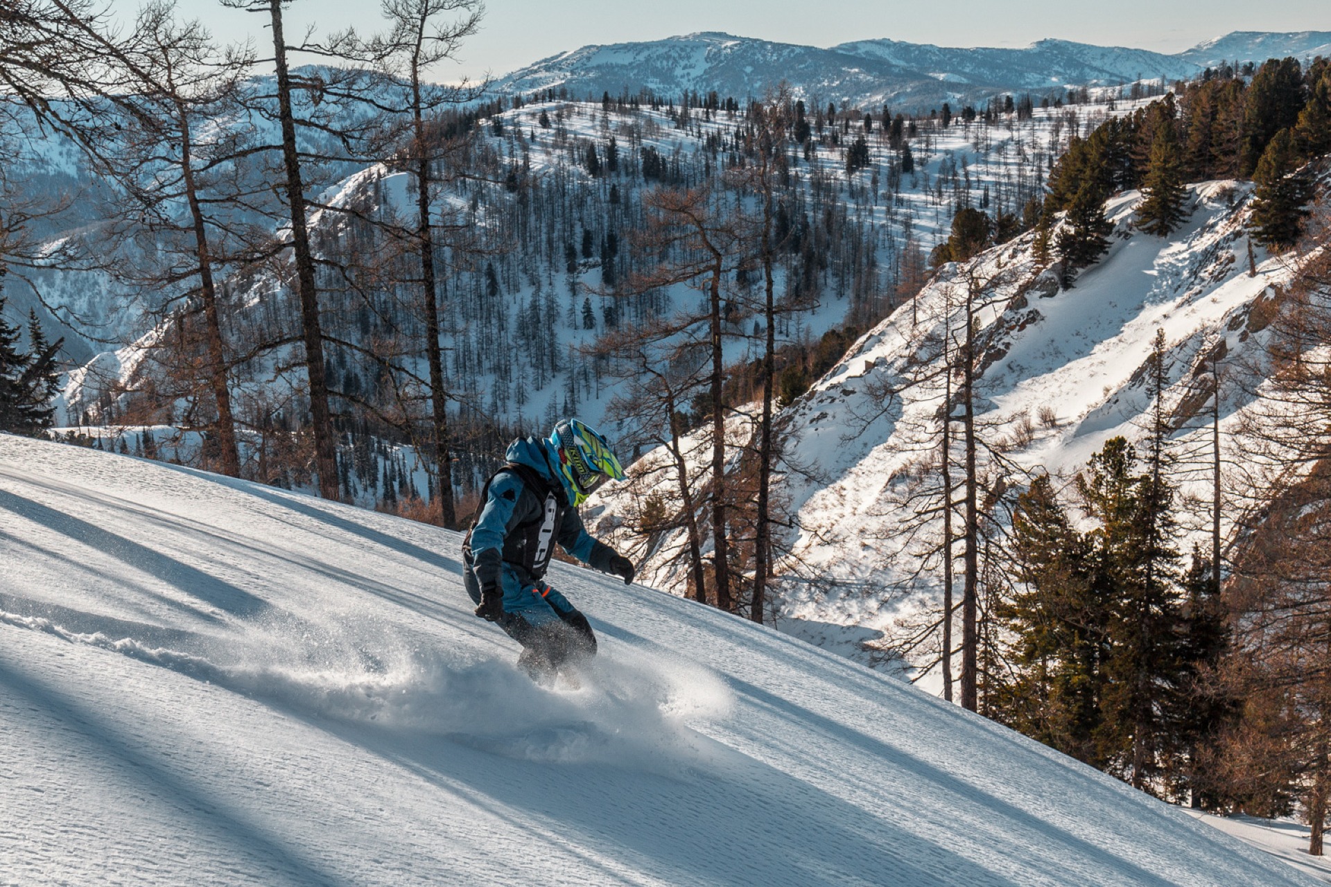
[(0, 436), (0, 872), (133, 884), (1310, 884), (713, 609), (556, 565), (534, 686), (458, 537)]

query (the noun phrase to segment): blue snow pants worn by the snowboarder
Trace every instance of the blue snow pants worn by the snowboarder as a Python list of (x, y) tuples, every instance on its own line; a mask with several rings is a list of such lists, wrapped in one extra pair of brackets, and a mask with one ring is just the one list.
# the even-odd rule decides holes
[[(507, 565), (502, 570), (503, 618), (498, 625), (524, 648), (524, 658), (550, 670), (596, 656), (596, 636), (587, 617), (548, 582), (523, 582)], [(467, 596), (480, 604), (480, 584), (463, 570)]]

